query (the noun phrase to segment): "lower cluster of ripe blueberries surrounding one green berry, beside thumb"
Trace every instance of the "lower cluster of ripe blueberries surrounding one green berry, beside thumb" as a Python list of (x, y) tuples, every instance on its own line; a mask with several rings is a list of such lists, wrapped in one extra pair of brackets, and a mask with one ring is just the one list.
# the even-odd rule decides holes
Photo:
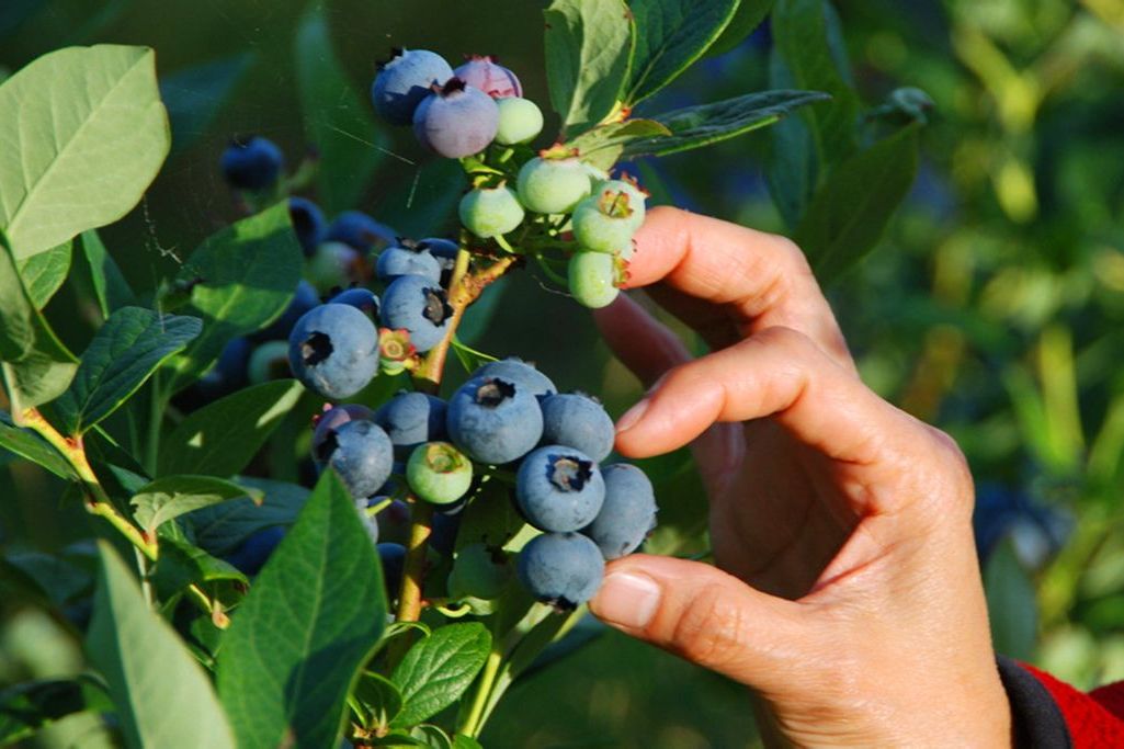
[[(299, 337), (293, 345), (302, 345)], [(306, 383), (317, 388), (315, 380)], [(537, 599), (566, 608), (597, 592), (606, 559), (635, 551), (655, 525), (644, 472), (624, 463), (600, 467), (613, 440), (613, 419), (597, 400), (559, 394), (537, 369), (507, 359), (475, 371), (447, 403), (410, 391), (374, 412), (332, 407), (317, 419), (312, 458), (336, 471), (375, 540), (378, 517), (389, 509), (393, 523), (407, 495), (448, 517), (483, 481), (495, 480), (488, 467), (517, 464), (513, 498), (526, 522), (543, 531), (519, 553), (518, 577)], [(402, 547), (380, 543), (379, 551), (388, 580), (400, 575)], [(450, 595), (497, 597), (505, 565), (499, 549), (462, 548)]]

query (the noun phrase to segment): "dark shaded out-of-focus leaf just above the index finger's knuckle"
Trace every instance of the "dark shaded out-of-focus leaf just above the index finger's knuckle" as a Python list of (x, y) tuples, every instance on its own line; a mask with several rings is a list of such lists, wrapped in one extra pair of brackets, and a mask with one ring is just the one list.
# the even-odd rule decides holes
[(878, 244), (917, 174), (918, 126), (841, 163), (816, 192), (794, 238), (825, 286)]

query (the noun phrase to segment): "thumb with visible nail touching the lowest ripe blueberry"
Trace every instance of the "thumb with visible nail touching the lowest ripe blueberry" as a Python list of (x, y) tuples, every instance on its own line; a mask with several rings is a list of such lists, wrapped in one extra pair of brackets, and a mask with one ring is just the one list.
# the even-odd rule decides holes
[(606, 568), (590, 611), (606, 624), (773, 692), (813, 657), (805, 606), (703, 562), (632, 554)]

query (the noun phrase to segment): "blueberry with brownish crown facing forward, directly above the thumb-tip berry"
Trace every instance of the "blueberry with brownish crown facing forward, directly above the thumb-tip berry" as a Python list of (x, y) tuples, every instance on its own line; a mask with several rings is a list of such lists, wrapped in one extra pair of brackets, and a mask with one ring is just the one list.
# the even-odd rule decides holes
[(515, 498), (528, 523), (541, 531), (566, 533), (597, 517), (605, 502), (605, 480), (589, 455), (552, 444), (523, 460)]

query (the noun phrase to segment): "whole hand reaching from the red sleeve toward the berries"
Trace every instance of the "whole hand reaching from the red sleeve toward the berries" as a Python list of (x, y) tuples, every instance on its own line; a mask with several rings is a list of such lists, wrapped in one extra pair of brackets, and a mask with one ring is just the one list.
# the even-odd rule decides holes
[(617, 449), (691, 443), (717, 567), (617, 560), (593, 614), (745, 684), (772, 746), (1009, 746), (964, 458), (862, 383), (800, 250), (656, 208), (627, 286), (710, 346), (625, 295), (596, 315), (651, 385)]

